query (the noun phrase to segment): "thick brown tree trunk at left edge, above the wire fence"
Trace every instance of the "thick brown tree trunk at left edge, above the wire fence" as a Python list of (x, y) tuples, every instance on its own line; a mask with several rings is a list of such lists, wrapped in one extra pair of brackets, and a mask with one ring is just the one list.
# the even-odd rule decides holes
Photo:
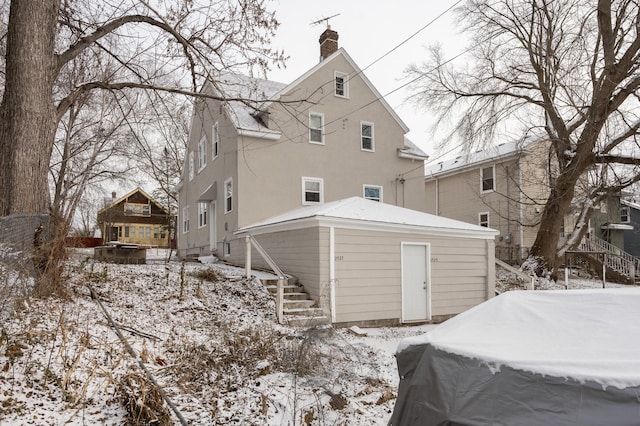
[(0, 215), (47, 213), (58, 0), (13, 0), (0, 105)]

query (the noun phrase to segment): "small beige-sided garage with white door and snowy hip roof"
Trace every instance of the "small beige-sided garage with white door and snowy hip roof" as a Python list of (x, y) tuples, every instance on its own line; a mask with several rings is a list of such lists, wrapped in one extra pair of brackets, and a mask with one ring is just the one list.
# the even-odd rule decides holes
[[(241, 228), (333, 323), (440, 321), (494, 295), (497, 231), (352, 197)], [(267, 267), (256, 253), (252, 265)]]

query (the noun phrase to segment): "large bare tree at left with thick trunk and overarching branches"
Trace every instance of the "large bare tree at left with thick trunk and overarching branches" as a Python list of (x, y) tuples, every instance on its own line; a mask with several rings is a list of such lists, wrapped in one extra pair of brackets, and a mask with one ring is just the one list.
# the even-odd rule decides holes
[[(199, 95), (212, 72), (264, 71), (283, 61), (266, 47), (278, 25), (266, 0), (13, 0), (8, 15), (0, 17), (7, 28), (0, 38), (0, 51), (6, 52), (2, 216), (50, 212), (48, 173), (58, 126), (87, 93), (152, 89)], [(79, 57), (93, 57), (92, 64), (102, 66), (104, 55), (112, 60), (95, 79), (66, 90), (59, 84)], [(180, 84), (164, 86), (168, 75)]]

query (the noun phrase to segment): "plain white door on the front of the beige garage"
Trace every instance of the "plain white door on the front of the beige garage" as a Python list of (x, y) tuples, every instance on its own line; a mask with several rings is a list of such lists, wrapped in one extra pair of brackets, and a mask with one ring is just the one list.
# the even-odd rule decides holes
[(429, 245), (402, 244), (402, 321), (431, 319)]

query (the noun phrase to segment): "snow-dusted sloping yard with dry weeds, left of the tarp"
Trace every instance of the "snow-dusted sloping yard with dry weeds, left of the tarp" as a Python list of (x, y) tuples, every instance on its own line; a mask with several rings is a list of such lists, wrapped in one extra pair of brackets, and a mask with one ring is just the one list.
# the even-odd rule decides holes
[(180, 424), (139, 363), (191, 425), (387, 423), (397, 344), (434, 326), (277, 325), (273, 298), (243, 270), (164, 254), (114, 265), (74, 251), (68, 300), (21, 297), (28, 282), (0, 273), (0, 425)]

